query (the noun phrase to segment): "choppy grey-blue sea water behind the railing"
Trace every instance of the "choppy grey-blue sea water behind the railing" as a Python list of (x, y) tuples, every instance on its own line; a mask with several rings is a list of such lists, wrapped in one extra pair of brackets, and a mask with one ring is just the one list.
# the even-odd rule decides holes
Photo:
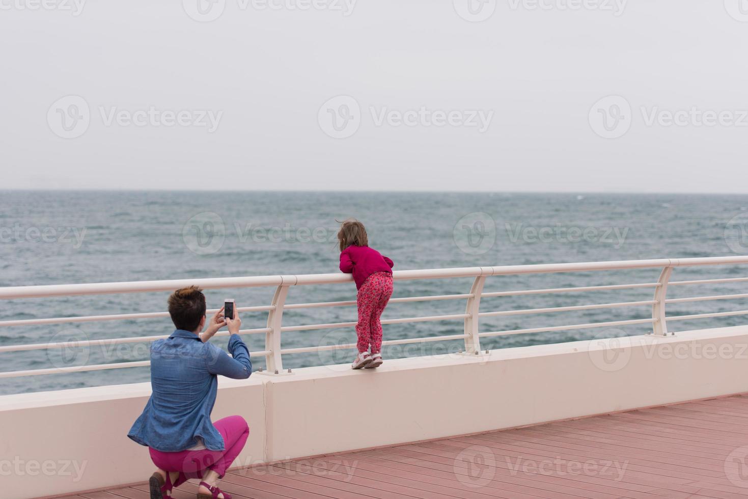
[[(748, 254), (746, 195), (340, 192), (0, 192), (0, 287), (337, 272), (336, 220), (364, 221), (395, 269), (526, 265)], [(676, 269), (673, 280), (746, 277), (747, 266)], [(657, 281), (659, 269), (489, 278), (486, 291)], [(471, 278), (397, 281), (393, 296), (468, 293)], [(745, 293), (743, 284), (672, 287), (669, 298)], [(272, 288), (207, 290), (209, 307), (269, 304)], [(287, 303), (355, 299), (354, 284), (292, 287)], [(652, 288), (484, 299), (481, 310), (652, 299)], [(168, 293), (0, 301), (0, 321), (160, 312)], [(669, 315), (745, 310), (745, 300), (669, 306)], [(465, 301), (390, 304), (384, 318), (464, 313)], [(646, 319), (649, 307), (489, 317), (481, 331)], [(263, 328), (245, 313), (242, 328)], [(284, 325), (355, 320), (355, 307), (287, 310)], [(745, 316), (672, 322), (672, 331), (743, 324)], [(0, 346), (171, 334), (168, 318), (0, 325)], [(649, 325), (484, 338), (488, 349), (644, 334)], [(461, 320), (385, 325), (384, 339), (462, 334)], [(264, 334), (245, 337), (265, 349)], [(225, 345), (225, 340), (216, 339)], [(283, 334), (283, 348), (355, 343), (353, 328)], [(149, 343), (0, 353), (0, 371), (147, 360)], [(393, 346), (385, 358), (447, 355), (462, 341)], [(340, 364), (350, 350), (284, 355), (284, 367)], [(262, 358), (255, 368), (264, 367)], [(0, 394), (146, 382), (147, 367), (0, 379)]]

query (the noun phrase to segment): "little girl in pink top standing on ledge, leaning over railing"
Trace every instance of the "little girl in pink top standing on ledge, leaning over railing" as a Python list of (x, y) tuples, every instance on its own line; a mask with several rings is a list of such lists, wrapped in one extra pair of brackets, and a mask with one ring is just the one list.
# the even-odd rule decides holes
[(353, 274), (358, 288), (358, 355), (351, 367), (373, 369), (382, 364), (379, 317), (392, 296), (393, 263), (369, 248), (367, 230), (358, 220), (344, 221), (337, 239), (340, 241), (340, 270)]

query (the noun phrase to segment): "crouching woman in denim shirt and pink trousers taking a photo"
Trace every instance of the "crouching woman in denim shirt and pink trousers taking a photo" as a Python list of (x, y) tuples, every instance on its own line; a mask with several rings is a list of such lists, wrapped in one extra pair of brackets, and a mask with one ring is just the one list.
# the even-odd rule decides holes
[[(252, 373), (247, 346), (239, 337), (239, 315), (224, 318), (218, 310), (206, 322), (205, 296), (198, 287), (171, 294), (169, 315), (177, 328), (150, 348), (153, 394), (127, 436), (150, 448), (158, 468), (150, 477), (151, 499), (170, 498), (171, 489), (188, 478), (199, 478), (198, 499), (231, 499), (218, 489), (218, 479), (244, 448), (249, 436), (241, 416), (212, 423), (210, 413), (218, 391), (218, 375), (246, 379)], [(236, 309), (235, 309), (236, 310)], [(224, 325), (231, 337), (232, 357), (207, 341)]]

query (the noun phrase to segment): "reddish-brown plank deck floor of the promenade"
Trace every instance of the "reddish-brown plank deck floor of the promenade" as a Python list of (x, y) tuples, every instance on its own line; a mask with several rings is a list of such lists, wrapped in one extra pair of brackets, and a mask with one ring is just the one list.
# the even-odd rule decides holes
[[(237, 470), (221, 488), (236, 499), (748, 498), (744, 446), (748, 397), (736, 396)], [(67, 497), (150, 496), (144, 483)]]

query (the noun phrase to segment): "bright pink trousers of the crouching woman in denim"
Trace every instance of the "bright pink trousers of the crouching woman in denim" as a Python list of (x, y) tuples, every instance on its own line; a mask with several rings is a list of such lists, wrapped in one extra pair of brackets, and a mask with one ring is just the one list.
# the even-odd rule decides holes
[(174, 486), (180, 486), (189, 478), (203, 478), (203, 473), (212, 470), (223, 478), (226, 470), (239, 453), (249, 436), (249, 426), (241, 416), (229, 416), (213, 423), (224, 437), (224, 450), (183, 450), (181, 452), (161, 452), (150, 450), (153, 464), (164, 471), (180, 471)]

